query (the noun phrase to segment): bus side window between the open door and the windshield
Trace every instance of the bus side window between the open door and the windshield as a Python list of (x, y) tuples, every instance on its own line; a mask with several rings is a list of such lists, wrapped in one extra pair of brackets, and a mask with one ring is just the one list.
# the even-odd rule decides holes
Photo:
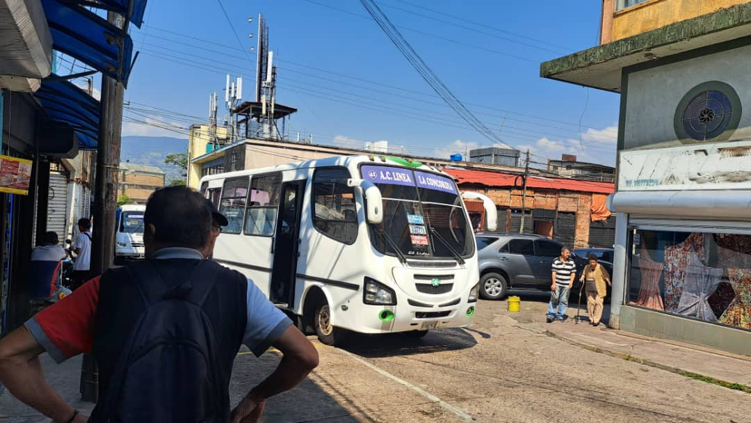
[(357, 239), (357, 207), (354, 188), (347, 186), (349, 171), (318, 169), (313, 174), (313, 225), (342, 243)]

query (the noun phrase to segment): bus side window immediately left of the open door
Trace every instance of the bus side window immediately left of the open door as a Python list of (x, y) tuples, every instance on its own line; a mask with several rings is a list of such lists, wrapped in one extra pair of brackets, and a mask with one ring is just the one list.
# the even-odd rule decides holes
[(281, 185), (281, 174), (253, 177), (248, 193), (248, 210), (245, 218), (246, 235), (270, 237), (274, 234)]

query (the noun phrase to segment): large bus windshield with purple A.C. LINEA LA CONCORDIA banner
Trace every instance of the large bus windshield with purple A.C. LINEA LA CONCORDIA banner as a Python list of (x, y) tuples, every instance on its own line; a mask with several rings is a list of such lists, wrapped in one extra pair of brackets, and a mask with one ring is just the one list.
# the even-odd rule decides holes
[(378, 165), (363, 165), (360, 172), (383, 197), (383, 222), (369, 225), (370, 239), (379, 252), (425, 258), (472, 255), (472, 228), (453, 180)]

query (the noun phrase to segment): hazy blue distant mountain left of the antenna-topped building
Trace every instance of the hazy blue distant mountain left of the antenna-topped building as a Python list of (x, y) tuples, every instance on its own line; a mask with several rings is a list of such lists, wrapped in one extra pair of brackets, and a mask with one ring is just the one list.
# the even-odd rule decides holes
[(164, 158), (167, 154), (186, 153), (188, 140), (171, 137), (122, 137), (120, 149), (120, 162), (130, 162), (134, 165), (149, 165), (160, 168), (170, 177), (180, 177), (185, 170), (172, 165), (165, 165)]

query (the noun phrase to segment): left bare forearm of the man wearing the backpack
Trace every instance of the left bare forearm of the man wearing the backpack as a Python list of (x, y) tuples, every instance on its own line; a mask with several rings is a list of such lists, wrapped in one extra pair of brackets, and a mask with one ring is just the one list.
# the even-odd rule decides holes
[(44, 378), (39, 361), (42, 352), (44, 347), (25, 327), (11, 332), (0, 340), (0, 380), (23, 403), (54, 421), (68, 421), (74, 408)]

